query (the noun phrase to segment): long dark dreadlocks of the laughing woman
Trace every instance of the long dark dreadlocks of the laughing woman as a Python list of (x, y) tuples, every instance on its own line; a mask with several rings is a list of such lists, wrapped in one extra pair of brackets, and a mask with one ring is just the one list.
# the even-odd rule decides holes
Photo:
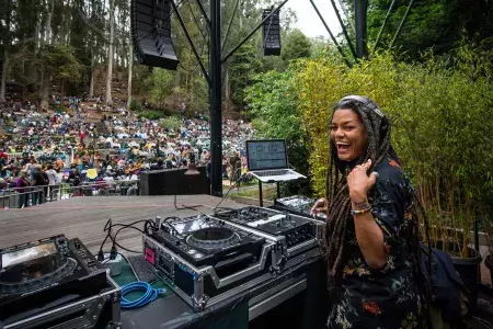
[[(386, 158), (391, 158), (400, 163), (400, 160), (390, 143), (391, 125), (388, 117), (369, 99), (363, 97), (347, 97), (342, 99), (333, 107), (330, 122), (332, 122), (336, 110), (353, 110), (362, 120), (366, 133), (366, 151), (358, 159), (352, 161), (342, 161), (337, 157), (337, 150), (334, 141), (330, 140), (330, 163), (326, 175), (326, 194), (329, 201), (329, 216), (326, 218), (324, 245), (326, 249), (329, 291), (331, 294), (337, 293), (342, 281), (342, 259), (344, 246), (346, 242), (346, 224), (351, 216), (351, 198), (347, 185), (347, 174), (349, 170), (360, 163), (371, 159), (374, 168)], [(370, 168), (371, 170), (371, 168)], [(413, 206), (409, 209), (413, 216), (413, 227), (408, 240), (409, 254), (413, 261), (413, 271), (416, 282), (426, 282), (425, 272), (421, 262), (420, 245), (420, 224), (417, 220), (417, 211), (425, 215), (419, 200), (414, 196)], [(427, 218), (424, 216), (425, 230), (427, 229)], [(429, 246), (429, 243), (428, 243)], [(431, 299), (429, 288), (420, 287), (422, 296), (427, 302)]]

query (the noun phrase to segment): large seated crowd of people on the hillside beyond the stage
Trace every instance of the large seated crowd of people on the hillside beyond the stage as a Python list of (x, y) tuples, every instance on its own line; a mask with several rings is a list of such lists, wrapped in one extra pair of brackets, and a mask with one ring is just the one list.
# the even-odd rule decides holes
[[(77, 99), (64, 111), (38, 110), (28, 102), (4, 105), (0, 192), (43, 191), (31, 198), (37, 204), (53, 196), (49, 186), (61, 183), (137, 181), (141, 171), (182, 168), (191, 161), (209, 168), (210, 132), (203, 115), (181, 115), (179, 126), (170, 127), (165, 120), (99, 112), (91, 105)], [(246, 170), (244, 141), (254, 129), (232, 120), (225, 120), (222, 127), (223, 177), (234, 180)], [(19, 207), (28, 204), (28, 197), (20, 197)]]

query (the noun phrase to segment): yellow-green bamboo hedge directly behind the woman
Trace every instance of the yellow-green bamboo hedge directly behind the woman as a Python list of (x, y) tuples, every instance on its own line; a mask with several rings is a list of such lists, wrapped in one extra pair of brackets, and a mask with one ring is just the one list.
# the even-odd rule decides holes
[[(314, 190), (325, 194), (330, 109), (346, 94), (375, 100), (393, 122), (392, 143), (412, 177), (437, 240), (467, 246), (469, 235), (450, 237), (444, 228), (471, 229), (491, 217), (493, 200), (493, 88), (490, 64), (471, 79), (478, 50), (460, 49), (450, 65), (428, 54), (423, 64), (375, 55), (352, 69), (330, 59), (308, 60), (299, 70), (299, 110), (310, 149)], [(463, 250), (462, 250), (463, 251)]]

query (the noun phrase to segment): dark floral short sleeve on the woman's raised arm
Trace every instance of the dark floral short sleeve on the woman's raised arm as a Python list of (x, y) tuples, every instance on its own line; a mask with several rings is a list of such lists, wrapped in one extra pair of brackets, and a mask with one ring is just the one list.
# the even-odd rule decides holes
[(375, 222), (383, 232), (383, 243), (386, 250), (394, 256), (394, 251), (404, 241), (401, 238), (401, 230), (405, 226), (405, 209), (410, 204), (409, 182), (402, 174), (392, 179), (377, 180), (375, 194), (371, 202), (371, 213)]

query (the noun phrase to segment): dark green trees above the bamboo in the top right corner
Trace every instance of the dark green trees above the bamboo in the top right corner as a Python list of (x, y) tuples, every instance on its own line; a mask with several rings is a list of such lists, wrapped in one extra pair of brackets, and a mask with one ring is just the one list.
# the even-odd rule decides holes
[[(352, 1), (345, 1), (352, 8)], [(395, 1), (381, 36), (387, 48), (404, 15), (409, 1)], [(375, 42), (387, 15), (390, 1), (375, 0), (368, 8), (368, 39)], [(435, 54), (454, 49), (462, 37), (493, 37), (493, 3), (488, 0), (416, 0), (399, 35), (395, 47), (414, 59), (433, 47)], [(488, 47), (488, 43), (484, 44)]]

